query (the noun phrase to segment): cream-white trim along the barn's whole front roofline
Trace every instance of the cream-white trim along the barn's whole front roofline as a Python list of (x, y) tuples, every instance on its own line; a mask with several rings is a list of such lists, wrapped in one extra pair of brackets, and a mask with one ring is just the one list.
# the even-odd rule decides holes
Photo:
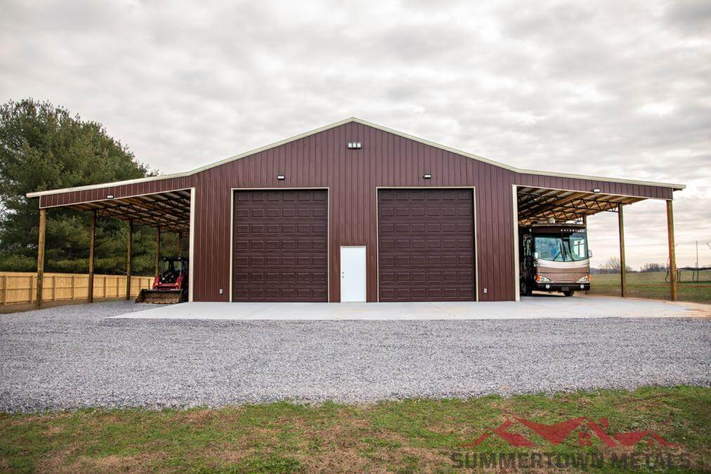
[(604, 178), (602, 176), (587, 176), (587, 175), (577, 175), (577, 174), (570, 174), (570, 173), (549, 173), (547, 171), (536, 171), (536, 170), (527, 170), (523, 168), (515, 168), (515, 166), (508, 166), (503, 163), (499, 163), (498, 161), (493, 161), (488, 158), (483, 158), (483, 156), (475, 155), (474, 153), (468, 153), (466, 151), (461, 151), (458, 149), (454, 149), (451, 146), (446, 146), (442, 144), (435, 143), (434, 141), (429, 141), (425, 139), (421, 139), (417, 136), (413, 136), (410, 134), (405, 134), (402, 131), (397, 131), (393, 130), (390, 128), (387, 128), (387, 126), (382, 126), (378, 124), (373, 124), (372, 122), (367, 122), (362, 119), (358, 119), (356, 117), (351, 117), (345, 120), (341, 120), (339, 122), (335, 122), (333, 124), (329, 124), (326, 126), (321, 126), (318, 129), (314, 129), (311, 131), (306, 131), (303, 134), (295, 135), (292, 137), (289, 137), (288, 139), (276, 141), (272, 144), (261, 146), (260, 148), (253, 149), (250, 151), (245, 151), (245, 153), (240, 153), (239, 155), (235, 156), (230, 156), (230, 158), (225, 158), (220, 161), (216, 161), (215, 163), (210, 163), (205, 166), (201, 166), (200, 168), (196, 168), (192, 171), (184, 171), (183, 173), (173, 173), (169, 175), (161, 175), (161, 176), (149, 176), (148, 178), (137, 178), (137, 179), (131, 179), (127, 181), (114, 181), (112, 183), (100, 183), (100, 184), (93, 184), (93, 185), (86, 185), (86, 186), (77, 186), (75, 188), (63, 188), (63, 189), (53, 189), (53, 190), (46, 190), (46, 191), (38, 191), (36, 193), (27, 193), (26, 196), (28, 198), (37, 198), (39, 196), (44, 196), (44, 195), (50, 195), (50, 194), (61, 194), (61, 193), (69, 193), (72, 191), (82, 191), (82, 190), (90, 190), (90, 189), (99, 189), (99, 188), (109, 188), (113, 186), (122, 186), (122, 185), (127, 185), (127, 184), (134, 184), (134, 183), (145, 183), (147, 181), (159, 181), (163, 179), (171, 179), (171, 178), (183, 178), (185, 176), (191, 176), (196, 173), (200, 173), (201, 171), (208, 170), (210, 168), (215, 168), (215, 166), (220, 166), (225, 163), (230, 163), (230, 161), (235, 161), (240, 158), (244, 158), (245, 156), (250, 156), (255, 153), (259, 153), (260, 151), (268, 150), (275, 148), (280, 145), (288, 144), (291, 141), (296, 141), (298, 139), (305, 138), (306, 136), (311, 136), (314, 134), (318, 134), (321, 131), (326, 131), (328, 129), (333, 129), (336, 126), (341, 126), (344, 124), (348, 124), (349, 122), (356, 122), (358, 124), (363, 124), (365, 126), (370, 126), (373, 127), (374, 129), (382, 130), (382, 131), (387, 131), (388, 133), (395, 134), (397, 136), (402, 136), (402, 138), (405, 139), (410, 139), (414, 141), (418, 141), (419, 143), (429, 145), (429, 146), (434, 146), (435, 148), (439, 148), (442, 150), (446, 151), (451, 151), (452, 153), (456, 153), (461, 156), (466, 156), (467, 158), (471, 158), (477, 161), (483, 161), (484, 163), (488, 163), (493, 166), (498, 166), (500, 168), (505, 168), (509, 171), (513, 171), (515, 173), (525, 173), (525, 174), (539, 174), (539, 175), (545, 175), (545, 176), (557, 176), (559, 178), (577, 178), (577, 179), (589, 179), (593, 181), (608, 181), (611, 183), (626, 183), (626, 184), (640, 184), (640, 185), (650, 185), (650, 186), (659, 186), (661, 188), (672, 188), (675, 190), (681, 190), (686, 188), (686, 185), (683, 184), (675, 184), (675, 183), (656, 183), (654, 181), (638, 181), (638, 180), (628, 180), (628, 179), (618, 179), (618, 178)]

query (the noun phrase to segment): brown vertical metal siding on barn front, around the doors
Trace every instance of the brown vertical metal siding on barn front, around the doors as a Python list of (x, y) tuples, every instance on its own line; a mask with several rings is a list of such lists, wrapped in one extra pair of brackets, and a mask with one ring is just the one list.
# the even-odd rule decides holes
[[(348, 150), (360, 141), (361, 150)], [(432, 179), (422, 178), (432, 173)], [(287, 176), (277, 181), (277, 174)], [(349, 122), (210, 168), (193, 176), (95, 190), (45, 195), (41, 207), (196, 188), (193, 296), (229, 301), (231, 188), (328, 188), (330, 300), (340, 300), (339, 247), (365, 245), (368, 301), (378, 299), (377, 188), (476, 187), (476, 254), (480, 301), (513, 300), (513, 203), (511, 185), (670, 198), (655, 186), (514, 173), (380, 129)], [(483, 289), (487, 293), (483, 293)], [(219, 293), (223, 289), (223, 294)]]

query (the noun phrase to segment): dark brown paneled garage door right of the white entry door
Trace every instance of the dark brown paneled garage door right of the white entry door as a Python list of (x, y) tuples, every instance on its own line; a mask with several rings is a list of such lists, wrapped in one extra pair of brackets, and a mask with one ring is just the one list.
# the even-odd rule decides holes
[(380, 301), (473, 301), (471, 189), (378, 191)]

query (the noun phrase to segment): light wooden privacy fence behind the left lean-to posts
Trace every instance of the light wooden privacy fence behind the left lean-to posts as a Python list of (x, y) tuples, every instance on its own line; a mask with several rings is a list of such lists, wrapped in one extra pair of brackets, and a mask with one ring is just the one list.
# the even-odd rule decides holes
[[(153, 276), (132, 276), (131, 296), (150, 288)], [(89, 274), (46, 273), (42, 301), (80, 301), (89, 296)], [(124, 298), (125, 275), (94, 274), (94, 298)], [(0, 304), (34, 303), (37, 301), (37, 274), (0, 271)]]

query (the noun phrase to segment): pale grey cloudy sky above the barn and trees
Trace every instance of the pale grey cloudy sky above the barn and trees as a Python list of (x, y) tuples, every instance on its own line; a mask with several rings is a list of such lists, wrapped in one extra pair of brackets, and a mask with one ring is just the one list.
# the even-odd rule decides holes
[[(711, 265), (711, 2), (13, 1), (0, 99), (102, 122), (162, 173), (360, 117), (522, 168), (685, 183), (678, 263)], [(337, 6), (336, 6), (337, 5)], [(593, 264), (616, 215), (590, 219)], [(628, 262), (665, 263), (661, 201)]]

